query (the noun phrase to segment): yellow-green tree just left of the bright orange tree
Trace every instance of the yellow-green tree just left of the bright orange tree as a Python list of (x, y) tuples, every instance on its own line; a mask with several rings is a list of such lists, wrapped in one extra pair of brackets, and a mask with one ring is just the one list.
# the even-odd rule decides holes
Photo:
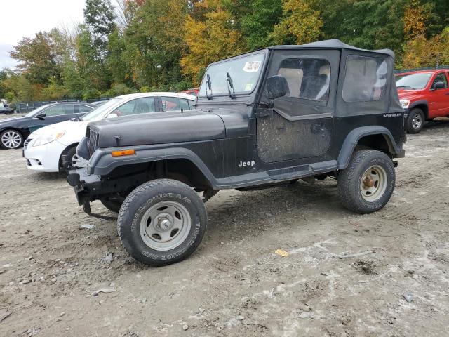
[[(185, 0), (147, 0), (132, 8), (123, 39), (123, 58), (135, 86), (173, 88), (183, 81), (180, 58), (185, 50)], [(173, 89), (172, 89), (173, 90)]]

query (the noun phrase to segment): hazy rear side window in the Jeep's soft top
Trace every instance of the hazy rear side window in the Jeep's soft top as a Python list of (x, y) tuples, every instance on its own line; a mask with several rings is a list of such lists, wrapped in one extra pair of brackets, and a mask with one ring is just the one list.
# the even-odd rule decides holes
[(382, 58), (348, 55), (344, 74), (343, 100), (381, 100), (387, 87), (387, 62)]

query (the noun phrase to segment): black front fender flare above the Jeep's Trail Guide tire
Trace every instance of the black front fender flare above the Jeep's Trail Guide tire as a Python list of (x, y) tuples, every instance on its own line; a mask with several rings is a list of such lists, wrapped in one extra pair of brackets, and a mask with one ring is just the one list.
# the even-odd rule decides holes
[(217, 179), (213, 176), (213, 173), (210, 172), (208, 166), (204, 164), (197, 154), (185, 147), (133, 148), (135, 149), (135, 154), (124, 157), (112, 157), (112, 151), (123, 150), (123, 148), (120, 147), (96, 150), (88, 163), (89, 173), (105, 176), (119, 166), (150, 163), (152, 161), (169, 159), (187, 159), (196, 165), (213, 188), (216, 187), (218, 189)]

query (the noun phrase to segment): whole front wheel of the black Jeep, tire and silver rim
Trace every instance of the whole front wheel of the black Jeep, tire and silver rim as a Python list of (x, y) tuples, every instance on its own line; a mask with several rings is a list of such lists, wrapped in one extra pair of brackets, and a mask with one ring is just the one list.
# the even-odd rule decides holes
[(206, 208), (199, 195), (171, 179), (152, 180), (133, 190), (117, 221), (126, 251), (147, 265), (187, 258), (199, 246), (206, 225)]

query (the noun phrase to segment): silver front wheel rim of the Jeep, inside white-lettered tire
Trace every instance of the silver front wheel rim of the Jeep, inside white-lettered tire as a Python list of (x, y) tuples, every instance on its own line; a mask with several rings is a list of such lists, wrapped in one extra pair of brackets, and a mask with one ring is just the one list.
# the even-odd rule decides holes
[(151, 206), (140, 220), (140, 237), (149, 248), (169, 251), (187, 239), (192, 227), (189, 211), (176, 201)]

